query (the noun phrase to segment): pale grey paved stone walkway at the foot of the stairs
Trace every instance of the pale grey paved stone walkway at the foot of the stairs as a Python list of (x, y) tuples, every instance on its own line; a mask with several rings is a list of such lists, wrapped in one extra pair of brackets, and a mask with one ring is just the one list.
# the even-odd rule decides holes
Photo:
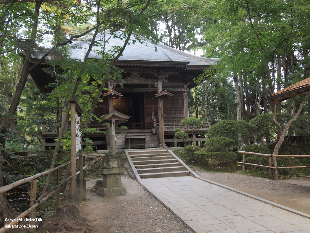
[(310, 233), (309, 218), (192, 176), (138, 180), (197, 233)]

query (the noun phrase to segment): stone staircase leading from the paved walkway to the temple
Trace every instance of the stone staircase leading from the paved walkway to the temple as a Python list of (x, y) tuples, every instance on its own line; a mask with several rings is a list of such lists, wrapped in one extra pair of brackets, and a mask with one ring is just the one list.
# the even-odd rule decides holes
[(187, 176), (189, 171), (167, 150), (128, 151), (140, 178)]

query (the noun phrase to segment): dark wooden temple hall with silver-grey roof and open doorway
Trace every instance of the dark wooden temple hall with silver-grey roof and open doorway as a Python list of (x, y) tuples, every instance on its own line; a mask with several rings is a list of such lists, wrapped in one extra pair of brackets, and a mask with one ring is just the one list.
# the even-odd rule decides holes
[[(98, 36), (98, 39), (102, 38)], [(174, 137), (174, 129), (179, 127), (180, 121), (188, 117), (188, 92), (195, 86), (193, 79), (218, 59), (193, 56), (166, 45), (155, 45), (142, 37), (141, 40), (144, 44), (136, 42), (127, 45), (123, 55), (114, 63), (124, 71), (124, 87), (121, 88), (115, 80), (108, 80), (108, 91), (101, 96), (103, 101), (97, 103), (94, 114), (100, 118), (109, 113), (108, 96), (112, 95), (113, 109), (130, 116), (124, 123), (116, 123), (116, 127), (128, 127), (126, 130), (116, 129), (117, 149), (157, 148), (162, 146), (163, 137), (168, 147), (182, 146), (183, 140)], [(122, 44), (122, 40), (111, 37), (107, 45), (112, 48)], [(88, 41), (71, 44), (71, 56), (76, 60), (82, 60), (88, 45)], [(89, 58), (100, 59), (95, 53), (100, 49), (94, 47)], [(105, 48), (106, 51), (108, 49)], [(44, 66), (47, 65), (42, 64), (30, 75), (38, 88), (47, 92), (47, 83), (54, 80), (51, 77), (47, 78), (48, 75), (42, 70)], [(98, 129), (97, 133), (84, 135), (94, 142), (95, 149), (109, 149), (109, 135), (103, 133), (108, 127), (104, 127), (100, 121), (93, 121), (88, 127)], [(206, 128), (207, 126), (197, 132), (204, 132)], [(122, 133), (124, 131), (126, 134)], [(55, 137), (55, 129), (43, 126), (42, 149), (53, 147)], [(204, 141), (205, 138), (199, 139), (197, 134), (194, 135), (194, 140)]]

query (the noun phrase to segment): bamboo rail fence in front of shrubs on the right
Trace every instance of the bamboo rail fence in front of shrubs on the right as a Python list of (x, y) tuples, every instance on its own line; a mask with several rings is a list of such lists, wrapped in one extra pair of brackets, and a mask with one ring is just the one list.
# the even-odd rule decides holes
[[(242, 164), (242, 171), (245, 171), (245, 165), (267, 167), (269, 168), (269, 176), (273, 177), (272, 173), (274, 173), (274, 178), (276, 180), (278, 180), (278, 169), (310, 167), (310, 166), (277, 167), (277, 157), (310, 157), (310, 155), (286, 155), (286, 154), (273, 155), (273, 154), (262, 154), (262, 153), (248, 152), (248, 151), (238, 151), (238, 153), (242, 154), (242, 162), (237, 162), (237, 163)], [(246, 154), (269, 157), (269, 166), (245, 162)], [(272, 165), (272, 162), (273, 162), (273, 165)]]

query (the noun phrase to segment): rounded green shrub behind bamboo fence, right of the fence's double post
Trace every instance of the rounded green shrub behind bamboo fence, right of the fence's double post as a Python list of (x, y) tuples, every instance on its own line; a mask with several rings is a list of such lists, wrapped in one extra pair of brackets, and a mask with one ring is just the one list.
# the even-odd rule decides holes
[[(284, 157), (277, 158), (277, 166), (278, 167), (295, 167), (295, 166), (303, 166), (303, 163), (300, 162), (298, 158), (294, 157)], [(278, 169), (279, 174), (281, 175), (297, 175), (303, 173), (303, 168), (282, 168)]]

